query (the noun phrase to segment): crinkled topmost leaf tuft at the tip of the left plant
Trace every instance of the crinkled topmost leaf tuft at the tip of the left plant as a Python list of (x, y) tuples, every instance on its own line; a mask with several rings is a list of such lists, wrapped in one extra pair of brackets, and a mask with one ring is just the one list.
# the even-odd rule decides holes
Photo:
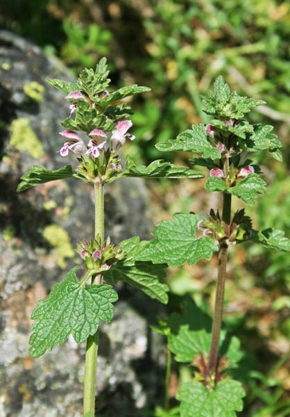
[(110, 84), (108, 79), (109, 71), (107, 65), (107, 59), (101, 58), (96, 70), (92, 68), (83, 70), (78, 77), (77, 87), (78, 90), (83, 91), (86, 95), (94, 101), (95, 97), (99, 97), (99, 93), (105, 91)]

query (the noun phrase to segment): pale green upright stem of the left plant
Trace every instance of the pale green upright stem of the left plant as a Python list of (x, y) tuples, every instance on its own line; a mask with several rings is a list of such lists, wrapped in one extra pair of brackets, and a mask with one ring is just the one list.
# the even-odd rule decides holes
[[(103, 184), (96, 183), (94, 186), (95, 195), (95, 222), (94, 234), (99, 236), (101, 244), (104, 241), (104, 198)], [(92, 276), (92, 284), (101, 284), (100, 275)], [(84, 409), (85, 417), (94, 417), (95, 413), (95, 393), (96, 393), (96, 359), (98, 357), (99, 329), (92, 336), (87, 338), (87, 347), (85, 352), (85, 383), (84, 383)]]

